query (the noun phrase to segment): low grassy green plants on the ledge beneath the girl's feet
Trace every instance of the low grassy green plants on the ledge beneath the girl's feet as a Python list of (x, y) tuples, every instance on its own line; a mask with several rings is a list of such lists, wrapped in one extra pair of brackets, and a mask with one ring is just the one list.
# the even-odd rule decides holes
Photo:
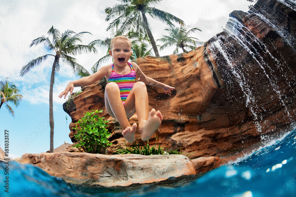
[(137, 140), (131, 145), (127, 146), (126, 141), (124, 141), (126, 148), (122, 148), (120, 146), (117, 146), (118, 148), (115, 149), (114, 154), (142, 154), (142, 155), (152, 155), (152, 154), (182, 154), (181, 152), (178, 152), (177, 150), (171, 150), (163, 151), (164, 147), (160, 147), (160, 145), (156, 146), (157, 137), (155, 140), (155, 146), (150, 147), (149, 140), (147, 141), (147, 144), (144, 146), (141, 146), (139, 143), (136, 144)]

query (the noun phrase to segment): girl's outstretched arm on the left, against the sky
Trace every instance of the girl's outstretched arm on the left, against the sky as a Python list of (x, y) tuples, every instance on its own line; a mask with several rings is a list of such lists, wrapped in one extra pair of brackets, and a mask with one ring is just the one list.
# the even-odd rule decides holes
[(65, 95), (64, 99), (66, 98), (68, 92), (70, 91), (70, 95), (72, 95), (74, 87), (80, 87), (80, 86), (88, 86), (90, 84), (93, 84), (94, 82), (102, 79), (104, 76), (108, 74), (108, 69), (110, 65), (101, 67), (97, 72), (90, 76), (85, 76), (80, 79), (77, 79), (75, 81), (71, 81), (68, 83), (65, 90), (59, 95), (59, 98)]

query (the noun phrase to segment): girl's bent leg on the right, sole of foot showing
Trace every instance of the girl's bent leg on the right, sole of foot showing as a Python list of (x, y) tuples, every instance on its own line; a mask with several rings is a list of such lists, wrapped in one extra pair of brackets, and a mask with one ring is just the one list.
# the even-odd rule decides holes
[(146, 85), (143, 82), (136, 82), (131, 90), (130, 94), (126, 98), (124, 107), (126, 108), (126, 114), (129, 112), (135, 113), (136, 110), (139, 120), (139, 131), (141, 139), (147, 141), (151, 135), (160, 126), (163, 117), (160, 111), (152, 109), (148, 114), (148, 94)]

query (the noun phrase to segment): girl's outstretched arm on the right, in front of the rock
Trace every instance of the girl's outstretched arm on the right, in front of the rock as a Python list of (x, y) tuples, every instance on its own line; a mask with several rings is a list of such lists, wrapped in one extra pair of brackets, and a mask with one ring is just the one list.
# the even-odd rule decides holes
[(131, 62), (131, 64), (134, 68), (136, 68), (136, 77), (139, 78), (141, 82), (143, 82), (144, 84), (160, 87), (165, 91), (165, 94), (167, 94), (167, 92), (171, 93), (170, 91), (175, 89), (174, 87), (168, 86), (166, 84), (152, 79), (151, 77), (146, 76), (136, 63)]

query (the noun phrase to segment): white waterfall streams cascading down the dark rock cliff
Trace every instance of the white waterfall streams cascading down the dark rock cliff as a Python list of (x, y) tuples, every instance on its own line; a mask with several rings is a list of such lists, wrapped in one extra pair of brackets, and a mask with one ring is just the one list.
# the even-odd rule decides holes
[[(284, 0), (281, 0), (279, 2), (285, 2), (285, 5), (289, 6), (294, 10), (296, 8), (295, 1), (286, 2)], [(269, 11), (272, 12), (271, 9)], [(293, 38), (293, 36), (289, 34), (287, 30), (279, 27), (277, 21), (279, 19), (275, 19), (275, 17), (270, 17), (267, 11), (264, 9), (260, 9), (259, 12), (254, 7), (250, 9), (250, 11), (247, 14), (253, 14), (252, 17), (254, 17), (255, 14), (255, 17), (258, 17), (263, 22), (265, 22), (266, 25), (268, 25), (271, 29), (274, 29), (275, 32), (279, 35), (279, 37), (285, 41), (285, 44), (288, 44), (292, 48), (292, 50), (296, 52), (294, 48), (295, 38)], [(212, 41), (210, 42), (208, 49), (211, 52), (211, 56), (213, 56), (214, 59), (218, 58), (218, 56), (216, 56), (217, 53), (215, 53), (216, 51), (218, 51), (218, 54), (221, 57), (223, 57), (224, 63), (221, 64), (226, 64), (224, 65), (224, 67), (228, 68), (228, 70), (230, 71), (230, 73), (228, 74), (228, 78), (238, 83), (238, 86), (240, 87), (243, 97), (245, 99), (246, 107), (250, 109), (258, 133), (262, 132), (262, 123), (260, 120), (263, 119), (263, 116), (257, 105), (258, 99), (255, 98), (255, 95), (253, 93), (254, 88), (250, 86), (250, 84), (252, 84), (252, 80), (248, 79), (246, 73), (242, 71), (243, 69), (247, 71), (259, 72), (261, 74), (261, 77), (264, 77), (264, 79), (267, 80), (269, 84), (267, 84), (268, 87), (271, 87), (271, 90), (274, 92), (274, 94), (272, 94), (271, 97), (275, 96), (274, 99), (279, 99), (279, 102), (284, 107), (287, 118), (289, 118), (289, 120), (293, 122), (294, 118), (291, 117), (287, 109), (287, 106), (284, 102), (285, 96), (281, 88), (277, 84), (277, 82), (279, 81), (278, 76), (287, 76), (287, 71), (283, 69), (283, 63), (281, 63), (281, 61), (279, 61), (274, 55), (272, 55), (271, 51), (269, 51), (269, 47), (265, 43), (263, 43), (263, 41), (259, 39), (251, 30), (249, 30), (243, 22), (239, 21), (235, 17), (235, 15), (235, 13), (234, 15), (230, 15), (225, 28), (223, 28), (223, 32), (225, 32), (226, 35), (217, 35), (213, 37)], [(268, 18), (266, 16), (268, 16)], [(239, 51), (236, 48), (227, 48), (227, 46), (224, 46), (225, 43), (223, 43), (223, 40), (227, 40), (226, 36), (230, 36), (231, 38), (233, 38), (237, 45), (242, 48), (240, 49), (241, 51)], [(249, 59), (247, 61), (239, 62), (237, 61), (237, 55), (234, 55), (236, 53), (245, 53), (245, 56), (247, 56)], [(268, 57), (271, 58), (271, 60), (274, 62), (272, 64), (275, 66), (276, 70), (274, 70), (270, 65), (268, 65), (264, 61), (264, 58), (261, 54), (266, 54), (268, 55)], [(281, 75), (279, 75), (279, 71), (281, 72)], [(289, 89), (292, 89), (291, 82), (287, 81), (287, 79), (284, 80)], [(264, 108), (261, 107), (261, 109), (263, 109), (263, 111), (266, 112)], [(260, 137), (261, 140), (265, 140), (268, 136), (260, 135)]]

